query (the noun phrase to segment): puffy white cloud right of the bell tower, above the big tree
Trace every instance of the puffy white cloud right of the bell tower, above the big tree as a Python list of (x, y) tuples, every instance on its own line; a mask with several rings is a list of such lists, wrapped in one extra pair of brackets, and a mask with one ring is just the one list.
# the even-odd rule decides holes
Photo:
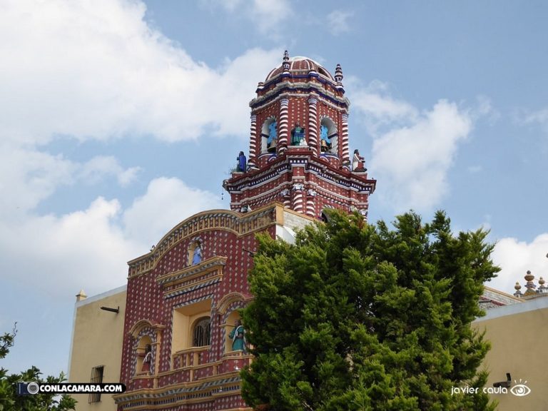
[(370, 176), (382, 181), (376, 196), (396, 212), (430, 210), (448, 191), (447, 171), (461, 141), (472, 130), (472, 116), (455, 103), (438, 101), (420, 112), (373, 84), (356, 95), (360, 116), (372, 134)]

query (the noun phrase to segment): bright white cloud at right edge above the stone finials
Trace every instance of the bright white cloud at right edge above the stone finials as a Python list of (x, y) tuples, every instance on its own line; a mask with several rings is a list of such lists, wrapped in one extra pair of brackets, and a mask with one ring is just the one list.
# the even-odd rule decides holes
[(526, 288), (524, 275), (527, 270), (535, 276), (534, 283), (538, 286), (538, 280), (543, 277), (548, 280), (548, 233), (538, 235), (532, 242), (519, 241), (517, 238), (502, 238), (495, 245), (492, 258), (495, 264), (502, 270), (498, 277), (487, 283), (489, 287), (514, 293), (514, 284), (522, 285), (522, 293)]

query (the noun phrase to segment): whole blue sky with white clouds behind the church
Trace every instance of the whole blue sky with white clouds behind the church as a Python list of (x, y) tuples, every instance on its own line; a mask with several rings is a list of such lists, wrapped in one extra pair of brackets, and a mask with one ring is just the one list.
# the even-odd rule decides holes
[(0, 5), (0, 366), (67, 370), (76, 293), (200, 210), (248, 151), (248, 103), (290, 56), (350, 98), (370, 221), (489, 228), (499, 278), (548, 275), (544, 1), (7, 1)]

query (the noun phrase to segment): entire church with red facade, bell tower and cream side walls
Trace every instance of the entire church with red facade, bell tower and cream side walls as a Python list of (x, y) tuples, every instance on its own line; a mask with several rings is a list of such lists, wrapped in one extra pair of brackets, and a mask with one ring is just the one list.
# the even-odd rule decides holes
[[(342, 78), (340, 66), (332, 76), (286, 52), (250, 102), (248, 156), (240, 152), (223, 183), (230, 210), (203, 211), (176, 225), (149, 253), (128, 262), (123, 288), (88, 299), (78, 293), (69, 381), (86, 382), (91, 372), (91, 380), (119, 380), (127, 390), (77, 397), (76, 410), (250, 410), (240, 370), (253, 358), (238, 310), (253, 299), (247, 278), (255, 235), (292, 241), (295, 230), (325, 218), (326, 208), (367, 218), (375, 191), (359, 151), (349, 150), (350, 102)], [(534, 392), (492, 395), (501, 410), (539, 409), (544, 396), (536, 394), (547, 380), (530, 372), (529, 350), (519, 344), (534, 345), (534, 325), (545, 317), (548, 300), (532, 305), (517, 297), (485, 288), (479, 303), (489, 315), (475, 324), (487, 329), (494, 346), (486, 359), (488, 386), (509, 372), (529, 378)], [(509, 328), (521, 328), (520, 339)]]

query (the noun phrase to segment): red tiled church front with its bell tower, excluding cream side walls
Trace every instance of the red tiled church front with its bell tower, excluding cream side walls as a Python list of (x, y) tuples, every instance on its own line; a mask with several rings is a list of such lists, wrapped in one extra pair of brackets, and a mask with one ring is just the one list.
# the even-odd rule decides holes
[(128, 272), (119, 411), (248, 410), (240, 370), (252, 360), (238, 310), (253, 296), (255, 235), (292, 240), (325, 208), (367, 217), (376, 181), (349, 153), (342, 70), (290, 59), (259, 83), (250, 103), (248, 160), (223, 183), (231, 210), (176, 225)]

